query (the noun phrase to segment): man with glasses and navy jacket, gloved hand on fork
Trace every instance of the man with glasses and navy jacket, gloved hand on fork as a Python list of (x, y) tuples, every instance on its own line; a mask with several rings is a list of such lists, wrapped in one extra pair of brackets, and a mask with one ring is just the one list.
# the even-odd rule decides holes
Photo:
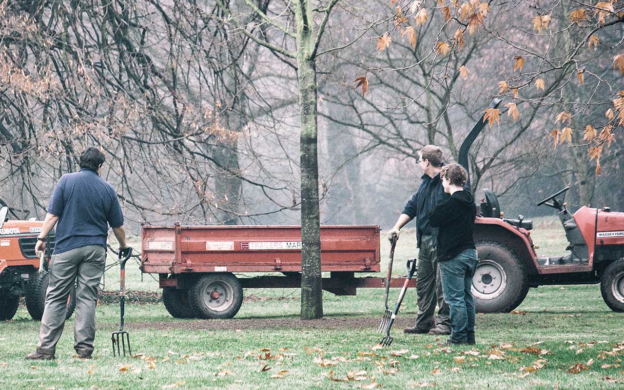
[[(449, 195), (444, 193), (440, 170), (442, 169), (442, 150), (435, 145), (427, 145), (418, 153), (418, 163), (424, 173), (418, 191), (407, 202), (394, 227), (388, 232), (388, 240), (399, 235), (401, 228), (416, 218), (416, 247), (418, 251), (418, 272), (416, 274), (416, 295), (418, 314), (416, 323), (406, 328), (406, 333), (450, 334), (451, 320), (449, 305), (442, 296), (440, 272), (437, 269), (436, 245), (437, 228), (429, 224), (429, 213), (438, 203)], [(436, 302), (438, 315), (434, 319)]]

